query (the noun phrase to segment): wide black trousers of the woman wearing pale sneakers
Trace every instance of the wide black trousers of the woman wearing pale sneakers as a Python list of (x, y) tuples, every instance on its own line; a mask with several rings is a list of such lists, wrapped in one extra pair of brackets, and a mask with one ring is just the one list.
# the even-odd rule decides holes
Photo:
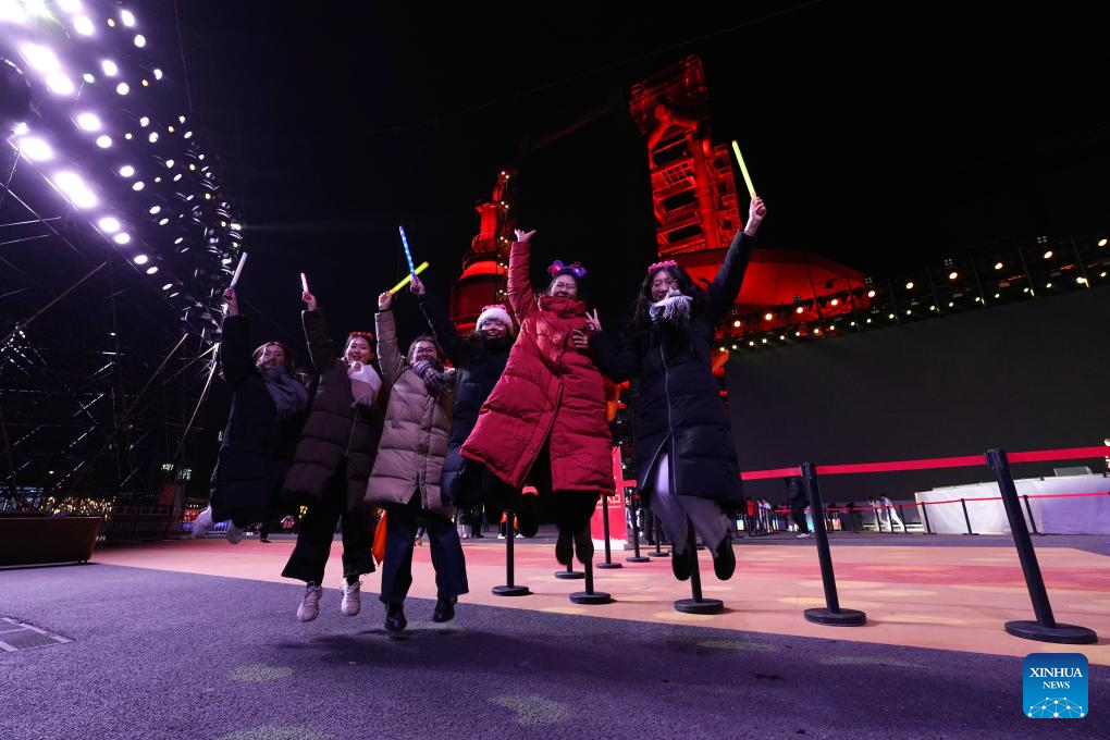
[(332, 551), (335, 524), (342, 519), (343, 577), (356, 580), (359, 576), (374, 572), (370, 555), (370, 513), (365, 509), (346, 510), (346, 465), (327, 481), (322, 500), (309, 506), (296, 535), (296, 547), (281, 575), (306, 584), (320, 585), (324, 566)]

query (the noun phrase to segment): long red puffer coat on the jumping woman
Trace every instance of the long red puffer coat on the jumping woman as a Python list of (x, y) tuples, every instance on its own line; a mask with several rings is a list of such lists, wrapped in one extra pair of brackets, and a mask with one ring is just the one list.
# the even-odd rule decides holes
[(602, 375), (571, 344), (572, 332), (586, 325), (586, 305), (551, 295), (537, 301), (529, 249), (516, 242), (509, 252), (508, 301), (521, 332), (463, 457), (519, 488), (549, 442), (553, 490), (613, 490)]

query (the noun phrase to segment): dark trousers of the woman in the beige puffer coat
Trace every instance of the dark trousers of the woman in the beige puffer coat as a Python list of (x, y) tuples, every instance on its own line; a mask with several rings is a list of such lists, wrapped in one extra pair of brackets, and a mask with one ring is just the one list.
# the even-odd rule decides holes
[(466, 559), (458, 530), (451, 519), (424, 511), (420, 491), (408, 504), (385, 506), (385, 560), (382, 562), (382, 601), (400, 604), (413, 585), (413, 549), (417, 521), (427, 531), (435, 568), (435, 590), (440, 598), (460, 596), (470, 591), (466, 582)]

